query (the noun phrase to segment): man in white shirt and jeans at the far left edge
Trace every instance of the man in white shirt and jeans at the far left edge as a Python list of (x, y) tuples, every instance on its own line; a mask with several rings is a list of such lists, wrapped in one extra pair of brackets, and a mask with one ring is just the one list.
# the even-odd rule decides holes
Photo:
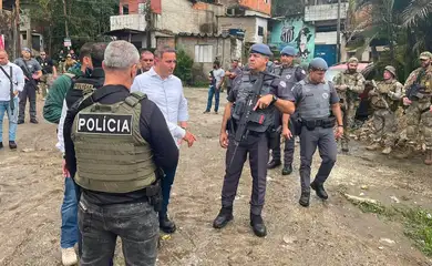
[(0, 149), (3, 147), (3, 116), (8, 113), (9, 147), (17, 149), (18, 92), (24, 89), (24, 74), (20, 66), (9, 62), (8, 53), (0, 50)]

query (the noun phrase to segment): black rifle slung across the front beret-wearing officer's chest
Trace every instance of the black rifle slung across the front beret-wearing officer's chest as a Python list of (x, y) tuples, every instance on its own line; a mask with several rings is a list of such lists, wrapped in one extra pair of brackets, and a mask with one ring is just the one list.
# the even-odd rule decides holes
[[(246, 98), (246, 103), (243, 102), (236, 103), (236, 106), (233, 111), (234, 112), (233, 117), (235, 116), (239, 117), (239, 122), (235, 131), (235, 136), (234, 136), (235, 149), (228, 168), (233, 164), (234, 157), (237, 153), (238, 145), (240, 144), (241, 141), (247, 140), (247, 136), (249, 135), (248, 123), (250, 121), (250, 117), (253, 116), (253, 113), (255, 112), (254, 108), (259, 99), (259, 93), (261, 91), (263, 83), (264, 83), (264, 73), (259, 72), (258, 79), (254, 83), (253, 92), (249, 93)], [(238, 114), (241, 114), (241, 116), (238, 116)], [(233, 129), (235, 127), (233, 126)]]

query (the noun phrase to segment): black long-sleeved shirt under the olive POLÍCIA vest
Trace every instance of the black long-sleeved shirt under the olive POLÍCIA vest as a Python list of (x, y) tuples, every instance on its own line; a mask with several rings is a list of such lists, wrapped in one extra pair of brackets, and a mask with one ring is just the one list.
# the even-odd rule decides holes
[[(114, 104), (124, 101), (130, 95), (130, 91), (123, 85), (106, 85), (96, 90), (93, 95), (102, 104)], [(76, 115), (75, 108), (76, 105), (68, 112), (63, 131), (65, 160), (71, 176), (74, 176), (76, 173), (75, 150), (71, 139), (73, 120)], [(173, 168), (177, 165), (177, 145), (174, 142), (161, 110), (148, 99), (141, 101), (140, 132), (143, 139), (151, 145), (153, 158), (157, 167)], [(121, 204), (146, 200), (143, 190), (131, 193), (104, 193), (83, 190), (83, 196), (88, 202), (96, 205)]]

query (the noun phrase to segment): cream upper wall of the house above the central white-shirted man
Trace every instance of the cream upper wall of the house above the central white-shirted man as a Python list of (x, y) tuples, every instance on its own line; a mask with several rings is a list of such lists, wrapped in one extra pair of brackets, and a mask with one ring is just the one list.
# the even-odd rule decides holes
[(214, 33), (216, 16), (225, 14), (225, 7), (188, 0), (162, 0), (162, 13), (155, 18), (155, 27), (173, 33)]

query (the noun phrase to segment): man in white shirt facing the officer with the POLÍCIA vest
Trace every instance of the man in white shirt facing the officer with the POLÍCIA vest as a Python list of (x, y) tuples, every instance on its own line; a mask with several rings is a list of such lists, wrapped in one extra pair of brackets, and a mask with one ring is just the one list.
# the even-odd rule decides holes
[[(156, 51), (155, 65), (135, 78), (131, 92), (140, 91), (147, 94), (148, 99), (156, 103), (164, 114), (177, 145), (184, 140), (188, 143), (188, 146), (192, 146), (196, 137), (186, 131), (189, 117), (187, 100), (183, 94), (182, 81), (173, 75), (176, 63), (176, 51), (174, 49), (163, 48)], [(167, 234), (174, 233), (176, 229), (175, 224), (169, 221), (167, 215), (169, 193), (176, 168), (163, 168), (165, 178), (162, 181), (163, 204), (160, 212), (160, 228)]]

